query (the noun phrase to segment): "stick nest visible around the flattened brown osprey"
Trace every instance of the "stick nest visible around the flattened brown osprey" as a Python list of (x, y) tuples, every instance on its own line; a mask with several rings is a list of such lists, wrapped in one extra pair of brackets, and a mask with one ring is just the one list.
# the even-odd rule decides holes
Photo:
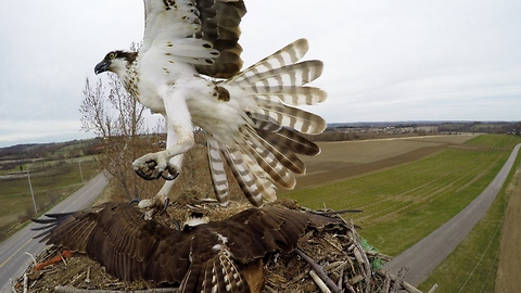
[[(293, 201), (279, 201), (294, 209), (309, 211)], [(165, 225), (173, 226), (171, 218), (182, 221), (188, 209), (203, 211), (211, 220), (220, 220), (247, 207), (247, 204), (231, 203), (226, 207), (215, 202), (174, 204), (168, 207)], [(170, 218), (171, 217), (171, 218)], [(75, 253), (71, 258), (59, 256), (63, 247), (49, 246), (36, 256), (24, 276), (13, 283), (13, 292), (176, 292), (147, 281), (125, 282), (106, 273), (104, 267), (86, 255)], [(59, 259), (42, 266), (49, 259)], [(265, 285), (263, 292), (420, 292), (398, 277), (381, 269), (390, 258), (380, 254), (356, 232), (353, 222), (323, 229), (310, 230), (302, 237), (298, 249), (291, 253), (275, 253), (264, 259)], [(40, 269), (35, 266), (40, 264)], [(405, 271), (405, 270), (404, 270)], [(102, 290), (102, 291), (100, 291)], [(25, 291), (27, 292), (27, 291)]]

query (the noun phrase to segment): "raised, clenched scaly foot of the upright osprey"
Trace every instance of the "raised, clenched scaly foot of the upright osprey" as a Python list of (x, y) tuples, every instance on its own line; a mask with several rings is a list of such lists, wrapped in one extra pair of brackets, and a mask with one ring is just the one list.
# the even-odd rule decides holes
[(134, 161), (134, 170), (145, 180), (154, 180), (163, 177), (165, 180), (174, 180), (179, 176), (179, 169), (161, 153), (151, 153)]

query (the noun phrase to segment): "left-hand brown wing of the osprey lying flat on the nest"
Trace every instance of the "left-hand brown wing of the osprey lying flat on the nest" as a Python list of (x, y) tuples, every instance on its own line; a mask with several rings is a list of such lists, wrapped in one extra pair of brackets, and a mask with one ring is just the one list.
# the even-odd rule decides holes
[[(104, 203), (76, 213), (47, 216), (50, 219), (34, 219), (47, 224), (35, 229), (45, 230), (35, 238), (86, 253), (105, 266), (109, 273), (123, 280), (174, 283), (181, 282), (187, 272), (187, 235), (157, 221), (141, 220), (141, 212), (126, 203)], [(177, 235), (174, 242), (178, 252), (167, 258), (168, 266), (164, 267), (164, 263), (151, 258), (171, 244), (173, 240), (168, 240), (171, 235)]]

